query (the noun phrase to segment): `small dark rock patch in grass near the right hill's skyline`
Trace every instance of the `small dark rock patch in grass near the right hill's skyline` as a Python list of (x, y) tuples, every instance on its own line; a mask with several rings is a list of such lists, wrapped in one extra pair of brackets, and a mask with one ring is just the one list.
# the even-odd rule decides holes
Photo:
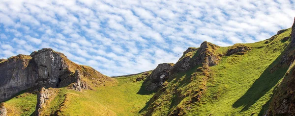
[(236, 55), (243, 55), (245, 54), (247, 51), (250, 51), (251, 48), (249, 46), (245, 46), (245, 45), (240, 45), (240, 44), (237, 44), (237, 45), (234, 45), (234, 46), (231, 46), (227, 52), (226, 52), (226, 56), (229, 56), (229, 55), (232, 55), (232, 54), (236, 54)]

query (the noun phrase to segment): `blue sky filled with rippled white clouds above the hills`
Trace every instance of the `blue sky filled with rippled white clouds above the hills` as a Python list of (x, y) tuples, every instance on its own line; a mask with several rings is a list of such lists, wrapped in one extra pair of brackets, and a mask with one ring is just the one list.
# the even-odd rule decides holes
[(42, 48), (108, 76), (176, 63), (188, 47), (268, 39), (295, 0), (0, 0), (0, 58)]

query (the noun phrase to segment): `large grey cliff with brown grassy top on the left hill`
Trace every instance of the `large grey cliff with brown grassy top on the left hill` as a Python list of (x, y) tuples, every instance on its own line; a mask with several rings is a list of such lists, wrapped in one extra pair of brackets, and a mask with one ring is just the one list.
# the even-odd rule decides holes
[(79, 72), (80, 82), (81, 77), (98, 86), (106, 81), (115, 82), (90, 67), (71, 62), (62, 53), (43, 48), (30, 55), (20, 54), (0, 61), (0, 102), (33, 87), (66, 87), (77, 82), (73, 76), (75, 70), (82, 70)]

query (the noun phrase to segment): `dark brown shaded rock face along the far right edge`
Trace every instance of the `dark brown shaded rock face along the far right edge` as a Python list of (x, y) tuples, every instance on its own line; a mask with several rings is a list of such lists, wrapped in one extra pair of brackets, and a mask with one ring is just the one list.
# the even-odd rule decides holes
[(295, 116), (295, 22), (292, 26), (291, 39), (281, 61), (282, 65), (290, 67), (273, 95), (266, 116)]

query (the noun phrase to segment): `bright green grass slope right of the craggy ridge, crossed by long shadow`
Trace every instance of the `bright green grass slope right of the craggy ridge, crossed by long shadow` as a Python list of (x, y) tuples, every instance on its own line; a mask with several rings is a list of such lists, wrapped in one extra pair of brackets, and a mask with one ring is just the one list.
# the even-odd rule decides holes
[[(188, 115), (200, 116), (250, 116), (265, 113), (272, 90), (286, 73), (288, 67), (274, 68), (289, 41), (291, 29), (274, 39), (246, 44), (252, 50), (245, 55), (231, 55), (211, 67), (212, 78), (201, 102), (195, 103)], [(267, 46), (268, 45), (268, 46)], [(263, 46), (263, 47), (261, 47)]]

